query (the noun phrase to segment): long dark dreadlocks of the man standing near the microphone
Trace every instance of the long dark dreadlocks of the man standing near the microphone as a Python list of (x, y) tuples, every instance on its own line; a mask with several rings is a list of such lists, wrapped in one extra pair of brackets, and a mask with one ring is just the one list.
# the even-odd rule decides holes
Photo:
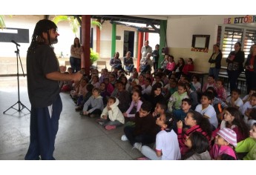
[(47, 40), (48, 44), (51, 46), (50, 42), (50, 30), (57, 30), (57, 26), (54, 22), (48, 20), (48, 19), (42, 19), (39, 22), (36, 23), (36, 27), (34, 29), (32, 39), (31, 39), (31, 44), (30, 47), (28, 47), (27, 52), (33, 52), (39, 45), (45, 44), (45, 39), (43, 37), (43, 33), (47, 33)]

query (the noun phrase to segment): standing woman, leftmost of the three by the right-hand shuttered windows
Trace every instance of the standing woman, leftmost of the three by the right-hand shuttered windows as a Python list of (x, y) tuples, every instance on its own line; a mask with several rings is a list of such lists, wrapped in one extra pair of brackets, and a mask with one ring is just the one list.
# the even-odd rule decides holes
[(209, 59), (210, 69), (209, 69), (209, 75), (213, 75), (214, 79), (217, 80), (220, 72), (221, 67), (221, 59), (222, 59), (222, 53), (220, 50), (220, 46), (218, 44), (214, 44), (213, 47), (214, 53), (211, 54), (211, 58)]

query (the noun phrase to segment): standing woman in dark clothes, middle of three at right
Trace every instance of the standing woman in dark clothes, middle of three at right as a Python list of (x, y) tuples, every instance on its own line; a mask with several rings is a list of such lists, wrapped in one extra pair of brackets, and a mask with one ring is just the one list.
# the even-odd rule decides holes
[(243, 71), (244, 52), (241, 51), (240, 42), (234, 44), (234, 51), (229, 53), (226, 62), (228, 63), (227, 71), (230, 82), (230, 91), (232, 91), (237, 88), (237, 78)]

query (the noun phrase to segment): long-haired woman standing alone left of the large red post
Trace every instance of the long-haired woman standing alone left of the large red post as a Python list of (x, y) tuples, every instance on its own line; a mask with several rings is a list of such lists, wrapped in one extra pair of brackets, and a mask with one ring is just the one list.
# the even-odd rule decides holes
[(69, 59), (70, 65), (73, 68), (73, 73), (81, 70), (81, 54), (82, 54), (82, 47), (81, 47), (79, 38), (75, 38), (70, 48), (70, 59)]

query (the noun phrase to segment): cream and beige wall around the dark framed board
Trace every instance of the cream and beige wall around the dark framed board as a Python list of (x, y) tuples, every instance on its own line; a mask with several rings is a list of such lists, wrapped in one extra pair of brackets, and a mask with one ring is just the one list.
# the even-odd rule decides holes
[[(217, 41), (217, 26), (229, 16), (178, 16), (169, 17), (167, 23), (167, 44), (175, 62), (180, 57), (194, 60), (195, 70), (209, 71), (209, 58)], [(210, 35), (209, 52), (191, 51), (192, 35)], [(226, 65), (223, 59), (223, 64)]]

